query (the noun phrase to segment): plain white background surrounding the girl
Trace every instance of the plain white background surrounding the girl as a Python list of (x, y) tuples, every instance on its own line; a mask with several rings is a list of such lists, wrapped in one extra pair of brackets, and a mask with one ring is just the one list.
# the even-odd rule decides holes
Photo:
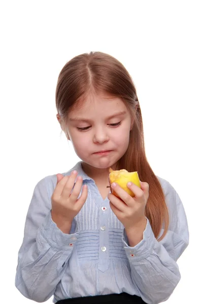
[[(131, 74), (148, 161), (178, 192), (190, 244), (167, 303), (202, 299), (202, 2), (2, 1), (1, 302), (16, 289), (17, 255), (33, 189), (78, 158), (56, 119), (58, 74), (72, 57), (106, 52)], [(52, 302), (50, 298), (48, 303)]]

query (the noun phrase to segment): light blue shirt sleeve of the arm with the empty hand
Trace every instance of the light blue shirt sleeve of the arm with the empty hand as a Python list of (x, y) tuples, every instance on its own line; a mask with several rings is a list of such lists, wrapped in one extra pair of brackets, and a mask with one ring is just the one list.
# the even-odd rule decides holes
[(77, 241), (75, 219), (70, 234), (62, 233), (52, 221), (47, 178), (40, 180), (33, 191), (15, 279), (17, 289), (37, 302), (53, 295)]

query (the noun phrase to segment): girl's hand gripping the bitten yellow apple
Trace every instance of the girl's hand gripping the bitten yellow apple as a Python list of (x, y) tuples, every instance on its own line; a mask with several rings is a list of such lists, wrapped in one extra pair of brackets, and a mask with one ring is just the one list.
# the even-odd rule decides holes
[(128, 188), (134, 193), (133, 198), (118, 184), (111, 184), (120, 199), (113, 194), (108, 194), (110, 207), (125, 229), (136, 227), (143, 220), (146, 220), (145, 206), (149, 198), (149, 184), (147, 182), (140, 183), (141, 188), (133, 183), (131, 185), (127, 184)]

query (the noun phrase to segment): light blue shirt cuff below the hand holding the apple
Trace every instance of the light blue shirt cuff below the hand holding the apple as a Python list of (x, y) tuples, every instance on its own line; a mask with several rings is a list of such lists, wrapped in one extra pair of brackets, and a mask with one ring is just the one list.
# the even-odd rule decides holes
[(140, 241), (140, 243), (138, 243), (134, 247), (129, 246), (125, 229), (123, 230), (122, 241), (123, 241), (125, 253), (130, 262), (139, 261), (143, 258), (146, 258), (149, 254), (151, 254), (155, 240), (156, 238), (154, 237), (154, 233), (152, 231), (148, 218), (147, 218), (146, 228), (143, 233), (143, 239), (142, 241)]

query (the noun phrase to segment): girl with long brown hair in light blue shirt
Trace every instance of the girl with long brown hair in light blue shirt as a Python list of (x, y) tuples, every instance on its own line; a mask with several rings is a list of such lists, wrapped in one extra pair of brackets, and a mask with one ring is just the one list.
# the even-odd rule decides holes
[[(136, 88), (124, 66), (91, 52), (67, 62), (56, 88), (57, 119), (82, 160), (40, 180), (28, 209), (15, 285), (54, 303), (165, 301), (180, 281), (188, 245), (185, 211), (145, 154)], [(109, 168), (138, 171), (132, 198)]]

